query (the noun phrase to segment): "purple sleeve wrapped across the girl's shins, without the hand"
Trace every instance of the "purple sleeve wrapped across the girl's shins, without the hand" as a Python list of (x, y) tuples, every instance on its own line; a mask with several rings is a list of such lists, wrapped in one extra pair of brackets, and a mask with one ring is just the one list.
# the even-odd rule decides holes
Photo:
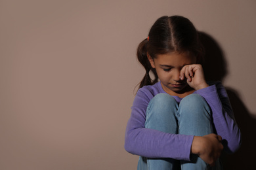
[(148, 158), (190, 160), (193, 136), (145, 128), (146, 108), (153, 97), (150, 92), (146, 92), (146, 88), (137, 92), (125, 132), (125, 150)]

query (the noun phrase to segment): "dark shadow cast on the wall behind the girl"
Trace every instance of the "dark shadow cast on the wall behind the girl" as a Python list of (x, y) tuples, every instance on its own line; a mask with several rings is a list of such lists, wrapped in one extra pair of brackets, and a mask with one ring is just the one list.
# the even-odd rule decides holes
[[(226, 60), (219, 44), (206, 33), (200, 32), (200, 39), (205, 48), (203, 70), (206, 80), (223, 81), (227, 74)], [(254, 169), (256, 153), (256, 119), (246, 109), (238, 92), (226, 87), (236, 122), (242, 133), (242, 146), (235, 154), (223, 154), (224, 169)]]

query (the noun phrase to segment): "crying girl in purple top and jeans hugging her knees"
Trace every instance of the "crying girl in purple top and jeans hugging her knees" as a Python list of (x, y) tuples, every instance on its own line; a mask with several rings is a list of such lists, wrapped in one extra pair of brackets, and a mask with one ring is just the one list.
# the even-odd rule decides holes
[(198, 32), (182, 16), (159, 18), (140, 42), (146, 75), (125, 132), (125, 150), (140, 156), (138, 169), (222, 169), (223, 148), (240, 147), (224, 87), (203, 76), (202, 51)]

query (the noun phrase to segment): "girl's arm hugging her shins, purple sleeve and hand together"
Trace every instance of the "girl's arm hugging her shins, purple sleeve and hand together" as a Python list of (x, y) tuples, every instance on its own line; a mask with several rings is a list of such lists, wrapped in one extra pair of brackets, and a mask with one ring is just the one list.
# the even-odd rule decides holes
[(198, 154), (209, 165), (214, 165), (223, 149), (219, 136), (175, 135), (144, 127), (146, 108), (152, 97), (153, 95), (142, 90), (137, 93), (125, 133), (125, 150), (148, 158), (177, 160), (190, 160), (190, 153), (193, 153)]

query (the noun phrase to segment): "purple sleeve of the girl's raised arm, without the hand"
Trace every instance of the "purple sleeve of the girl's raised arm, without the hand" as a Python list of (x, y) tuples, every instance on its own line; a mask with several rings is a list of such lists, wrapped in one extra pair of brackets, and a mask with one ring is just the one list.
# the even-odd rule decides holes
[(233, 153), (241, 144), (241, 134), (234, 119), (234, 114), (226, 90), (221, 82), (196, 91), (202, 95), (212, 110), (213, 125), (217, 135), (221, 135), (224, 150)]

